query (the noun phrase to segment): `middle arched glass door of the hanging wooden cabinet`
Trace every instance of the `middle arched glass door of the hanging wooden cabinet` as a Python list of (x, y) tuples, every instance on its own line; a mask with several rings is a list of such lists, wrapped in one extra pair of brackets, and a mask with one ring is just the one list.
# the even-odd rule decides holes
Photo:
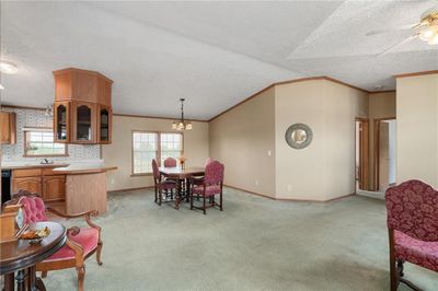
[(96, 143), (96, 104), (72, 103), (72, 143)]

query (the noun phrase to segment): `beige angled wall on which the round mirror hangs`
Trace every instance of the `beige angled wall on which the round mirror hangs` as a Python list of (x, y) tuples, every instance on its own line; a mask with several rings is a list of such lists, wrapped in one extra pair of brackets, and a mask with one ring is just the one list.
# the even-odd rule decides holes
[[(327, 80), (276, 88), (276, 197), (328, 200), (355, 193), (355, 118), (368, 116), (365, 92)], [(287, 128), (309, 125), (312, 143), (285, 141)]]

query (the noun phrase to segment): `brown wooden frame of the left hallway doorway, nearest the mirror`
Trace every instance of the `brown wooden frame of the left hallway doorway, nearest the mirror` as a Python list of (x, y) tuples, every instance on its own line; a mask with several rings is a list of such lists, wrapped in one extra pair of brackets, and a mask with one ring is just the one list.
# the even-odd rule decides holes
[(356, 123), (362, 124), (361, 135), (359, 136), (359, 189), (369, 190), (369, 118), (356, 117), (355, 118), (355, 187), (356, 187)]

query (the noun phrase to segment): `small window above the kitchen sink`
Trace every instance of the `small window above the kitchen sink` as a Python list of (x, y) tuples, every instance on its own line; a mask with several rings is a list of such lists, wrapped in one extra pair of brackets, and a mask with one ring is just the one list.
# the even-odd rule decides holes
[(54, 131), (48, 128), (24, 130), (24, 156), (67, 155), (67, 146), (54, 142)]

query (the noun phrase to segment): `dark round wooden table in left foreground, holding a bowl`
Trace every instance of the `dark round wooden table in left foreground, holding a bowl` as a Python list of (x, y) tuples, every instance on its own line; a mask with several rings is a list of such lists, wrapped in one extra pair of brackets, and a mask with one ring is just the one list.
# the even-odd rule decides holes
[(19, 291), (46, 290), (42, 279), (36, 278), (35, 265), (55, 254), (67, 240), (66, 228), (57, 222), (30, 223), (27, 230), (42, 230), (46, 226), (50, 230), (50, 233), (39, 243), (16, 240), (0, 244), (0, 275), (4, 275), (3, 290), (15, 290), (15, 280)]

